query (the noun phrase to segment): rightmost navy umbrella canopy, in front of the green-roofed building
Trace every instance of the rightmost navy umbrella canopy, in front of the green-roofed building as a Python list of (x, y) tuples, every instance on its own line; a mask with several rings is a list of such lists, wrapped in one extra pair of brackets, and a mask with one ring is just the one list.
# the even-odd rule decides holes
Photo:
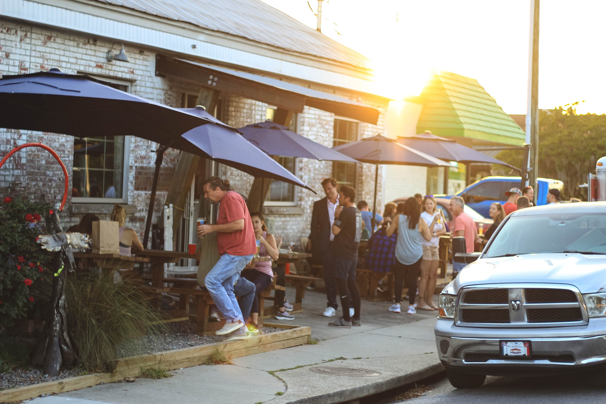
[(441, 138), (430, 131), (414, 136), (399, 137), (398, 143), (412, 147), (419, 152), (427, 153), (436, 158), (446, 161), (458, 161), (459, 163), (487, 163), (487, 164), (502, 164), (503, 166), (511, 167), (510, 164), (504, 163), (501, 160), (478, 152), (478, 150), (470, 149), (462, 144), (456, 143), (454, 140)]

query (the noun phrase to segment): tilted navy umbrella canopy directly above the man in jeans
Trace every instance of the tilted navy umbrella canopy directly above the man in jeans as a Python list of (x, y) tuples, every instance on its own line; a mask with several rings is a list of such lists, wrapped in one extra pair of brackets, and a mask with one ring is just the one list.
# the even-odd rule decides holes
[(202, 125), (188, 130), (182, 137), (219, 163), (227, 164), (254, 177), (285, 181), (315, 193), (293, 173), (250, 144), (235, 129)]

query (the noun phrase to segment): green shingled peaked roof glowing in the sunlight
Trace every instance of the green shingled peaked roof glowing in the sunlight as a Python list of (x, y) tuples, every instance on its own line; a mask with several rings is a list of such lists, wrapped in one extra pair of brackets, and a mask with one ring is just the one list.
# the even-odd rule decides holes
[(524, 131), (477, 80), (437, 71), (421, 92), (417, 132), (522, 146)]

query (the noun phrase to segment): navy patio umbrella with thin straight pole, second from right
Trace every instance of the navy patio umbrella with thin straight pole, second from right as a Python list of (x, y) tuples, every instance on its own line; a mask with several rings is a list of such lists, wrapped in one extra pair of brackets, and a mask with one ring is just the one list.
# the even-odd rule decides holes
[(375, 164), (375, 200), (373, 202), (372, 232), (375, 229), (375, 214), (377, 204), (377, 181), (379, 178), (379, 164), (401, 164), (405, 166), (450, 167), (450, 164), (427, 153), (419, 152), (412, 147), (404, 146), (394, 139), (382, 135), (364, 138), (362, 140), (341, 144), (333, 147), (349, 157), (362, 163)]

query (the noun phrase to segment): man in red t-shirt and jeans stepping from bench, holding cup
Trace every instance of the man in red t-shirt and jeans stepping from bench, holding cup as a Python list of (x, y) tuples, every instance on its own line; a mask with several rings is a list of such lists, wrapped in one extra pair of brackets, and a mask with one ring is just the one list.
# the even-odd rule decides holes
[(231, 189), (229, 181), (208, 178), (204, 182), (204, 198), (219, 203), (217, 223), (198, 224), (198, 236), (217, 232), (221, 258), (206, 275), (204, 286), (225, 316), (225, 325), (215, 332), (224, 335), (245, 326), (233, 285), (257, 251), (255, 231), (244, 198)]

